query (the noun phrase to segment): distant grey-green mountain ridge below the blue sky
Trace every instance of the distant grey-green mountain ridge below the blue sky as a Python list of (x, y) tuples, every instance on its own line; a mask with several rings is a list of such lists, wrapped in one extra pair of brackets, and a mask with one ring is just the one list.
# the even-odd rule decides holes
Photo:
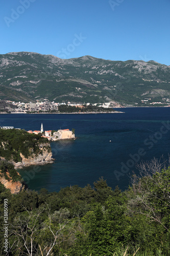
[(0, 99), (35, 102), (45, 98), (121, 105), (142, 105), (148, 99), (165, 102), (163, 98), (170, 98), (170, 66), (88, 55), (71, 59), (33, 52), (0, 55)]

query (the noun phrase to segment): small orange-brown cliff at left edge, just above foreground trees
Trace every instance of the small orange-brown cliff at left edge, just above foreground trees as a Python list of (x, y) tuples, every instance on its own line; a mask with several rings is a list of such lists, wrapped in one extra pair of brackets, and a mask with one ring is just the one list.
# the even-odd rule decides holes
[[(1, 174), (1, 170), (0, 170)], [(18, 174), (19, 175), (19, 174)], [(18, 194), (21, 190), (25, 189), (25, 185), (20, 181), (8, 181), (5, 179), (4, 175), (1, 174), (0, 182), (6, 187), (11, 190), (11, 194)]]

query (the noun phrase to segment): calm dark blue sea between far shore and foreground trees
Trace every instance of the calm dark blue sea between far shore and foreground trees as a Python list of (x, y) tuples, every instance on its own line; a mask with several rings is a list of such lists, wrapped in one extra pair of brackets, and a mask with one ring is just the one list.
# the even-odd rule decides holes
[[(125, 108), (123, 114), (4, 114), (0, 125), (25, 130), (75, 129), (77, 140), (52, 142), (55, 163), (20, 169), (31, 189), (85, 186), (103, 176), (109, 186), (126, 189), (135, 161), (170, 153), (170, 108)], [(163, 125), (163, 122), (165, 125)], [(110, 142), (111, 140), (111, 142)], [(135, 155), (134, 155), (135, 154)], [(36, 168), (36, 169), (35, 169)]]

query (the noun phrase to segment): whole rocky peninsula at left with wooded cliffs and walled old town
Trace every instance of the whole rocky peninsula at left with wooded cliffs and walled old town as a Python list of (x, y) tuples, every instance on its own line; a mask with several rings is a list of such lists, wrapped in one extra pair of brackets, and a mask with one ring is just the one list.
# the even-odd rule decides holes
[(25, 189), (17, 168), (30, 165), (53, 163), (50, 141), (76, 139), (75, 129), (58, 131), (25, 131), (13, 126), (0, 129), (0, 182), (9, 188), (12, 194)]

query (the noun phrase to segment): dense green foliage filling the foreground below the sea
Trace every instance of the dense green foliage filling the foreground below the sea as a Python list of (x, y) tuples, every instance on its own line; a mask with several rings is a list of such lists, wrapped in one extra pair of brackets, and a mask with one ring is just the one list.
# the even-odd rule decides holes
[(170, 168), (135, 176), (124, 192), (103, 178), (58, 193), (11, 195), (1, 185), (1, 216), (4, 199), (9, 204), (9, 255), (170, 255), (169, 184)]

